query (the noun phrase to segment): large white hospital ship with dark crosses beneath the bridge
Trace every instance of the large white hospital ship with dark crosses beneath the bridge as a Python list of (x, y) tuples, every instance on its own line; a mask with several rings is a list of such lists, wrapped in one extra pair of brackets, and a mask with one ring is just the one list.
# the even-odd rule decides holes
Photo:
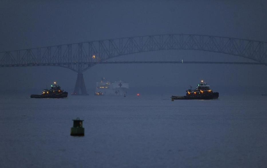
[(94, 95), (126, 95), (129, 89), (129, 83), (124, 81), (115, 81), (111, 83), (102, 78), (96, 82), (96, 93)]

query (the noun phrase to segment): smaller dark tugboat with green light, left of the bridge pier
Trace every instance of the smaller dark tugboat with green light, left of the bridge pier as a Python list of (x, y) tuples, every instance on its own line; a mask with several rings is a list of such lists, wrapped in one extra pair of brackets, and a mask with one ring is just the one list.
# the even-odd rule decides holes
[(31, 98), (65, 98), (68, 97), (68, 92), (60, 89), (60, 86), (54, 82), (51, 89), (44, 89), (41, 95), (31, 95)]

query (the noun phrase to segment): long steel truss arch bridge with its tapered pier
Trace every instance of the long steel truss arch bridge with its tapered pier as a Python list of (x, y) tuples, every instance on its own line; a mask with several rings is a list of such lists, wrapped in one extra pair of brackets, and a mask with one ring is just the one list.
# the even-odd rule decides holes
[[(244, 57), (256, 62), (127, 61), (110, 58), (160, 50), (199, 50)], [(83, 72), (106, 63), (217, 63), (267, 66), (267, 42), (195, 34), (167, 34), (88, 41), (0, 52), (0, 67), (59, 66), (78, 73), (74, 94), (86, 95)]]

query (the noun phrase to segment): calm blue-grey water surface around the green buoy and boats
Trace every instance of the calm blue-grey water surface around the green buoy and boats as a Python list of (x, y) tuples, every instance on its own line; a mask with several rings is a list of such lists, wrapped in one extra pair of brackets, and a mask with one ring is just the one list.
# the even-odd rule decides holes
[(263, 96), (0, 96), (0, 167), (266, 167), (266, 109)]

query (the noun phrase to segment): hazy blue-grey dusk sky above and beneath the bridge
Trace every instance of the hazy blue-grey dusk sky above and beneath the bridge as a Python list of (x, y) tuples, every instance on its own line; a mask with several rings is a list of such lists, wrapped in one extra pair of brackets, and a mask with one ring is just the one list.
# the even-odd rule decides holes
[[(0, 51), (120, 37), (192, 33), (267, 41), (267, 1), (1, 1)], [(151, 56), (154, 57), (151, 57)], [(166, 57), (240, 59), (202, 51), (161, 51), (122, 56), (136, 61)], [(96, 65), (84, 72), (87, 88), (106, 77), (130, 87), (187, 87), (205, 79), (215, 88), (266, 88), (266, 66)], [(0, 87), (44, 88), (58, 81), (72, 92), (76, 73), (60, 67), (0, 68)], [(9, 85), (6, 83), (9, 82)], [(89, 90), (89, 89), (88, 89)], [(93, 92), (92, 89), (89, 91)]]

